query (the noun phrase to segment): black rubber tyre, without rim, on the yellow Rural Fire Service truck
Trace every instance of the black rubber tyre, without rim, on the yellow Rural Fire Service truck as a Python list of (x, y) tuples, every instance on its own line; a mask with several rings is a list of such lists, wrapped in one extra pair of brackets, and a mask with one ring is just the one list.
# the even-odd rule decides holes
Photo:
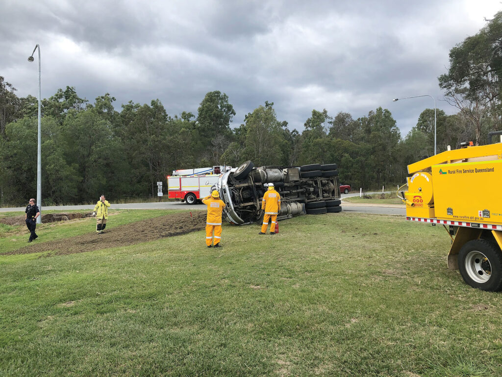
[[(478, 250), (486, 255), (492, 268), (491, 277), (485, 283), (470, 278), (465, 269), (465, 257), (470, 251)], [(458, 269), (464, 281), (471, 287), (487, 292), (502, 291), (502, 253), (498, 244), (492, 240), (478, 239), (466, 242), (458, 253)]]

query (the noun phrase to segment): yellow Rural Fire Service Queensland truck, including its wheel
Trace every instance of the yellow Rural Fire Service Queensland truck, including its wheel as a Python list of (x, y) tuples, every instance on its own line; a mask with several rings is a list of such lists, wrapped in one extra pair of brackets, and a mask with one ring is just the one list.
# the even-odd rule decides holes
[(398, 190), (407, 220), (443, 225), (452, 238), (448, 267), (474, 288), (501, 291), (502, 143), (448, 150), (408, 173), (408, 190)]

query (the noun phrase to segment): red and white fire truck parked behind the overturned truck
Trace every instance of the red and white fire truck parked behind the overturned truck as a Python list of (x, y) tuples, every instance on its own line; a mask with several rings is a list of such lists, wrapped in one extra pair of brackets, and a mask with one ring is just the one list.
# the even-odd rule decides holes
[(168, 198), (196, 204), (199, 199), (211, 194), (211, 187), (218, 181), (218, 177), (231, 168), (213, 166), (174, 170), (173, 175), (167, 176)]

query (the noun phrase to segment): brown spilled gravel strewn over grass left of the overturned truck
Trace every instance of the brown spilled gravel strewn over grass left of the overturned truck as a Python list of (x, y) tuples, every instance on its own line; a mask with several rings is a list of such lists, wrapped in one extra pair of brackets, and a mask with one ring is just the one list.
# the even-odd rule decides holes
[(32, 254), (44, 251), (52, 251), (48, 256), (74, 254), (109, 247), (128, 246), (204, 229), (206, 212), (192, 211), (192, 215), (193, 217), (190, 216), (189, 212), (177, 213), (119, 227), (113, 227), (112, 220), (107, 224), (109, 228), (107, 227), (103, 234), (96, 234), (95, 228), (92, 228), (89, 229), (89, 234), (42, 243), (38, 242), (43, 239), (44, 235), (39, 234), (39, 239), (30, 245), (8, 253), (0, 253), (0, 255)]

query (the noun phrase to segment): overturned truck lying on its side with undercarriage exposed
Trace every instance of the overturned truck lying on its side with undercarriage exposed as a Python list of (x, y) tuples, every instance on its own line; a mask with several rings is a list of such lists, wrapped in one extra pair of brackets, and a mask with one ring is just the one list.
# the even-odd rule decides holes
[(281, 195), (279, 220), (305, 213), (316, 215), (341, 211), (336, 164), (255, 168), (251, 161), (247, 161), (222, 174), (214, 186), (226, 204), (223, 218), (237, 225), (259, 222), (263, 217), (265, 183), (274, 183)]

